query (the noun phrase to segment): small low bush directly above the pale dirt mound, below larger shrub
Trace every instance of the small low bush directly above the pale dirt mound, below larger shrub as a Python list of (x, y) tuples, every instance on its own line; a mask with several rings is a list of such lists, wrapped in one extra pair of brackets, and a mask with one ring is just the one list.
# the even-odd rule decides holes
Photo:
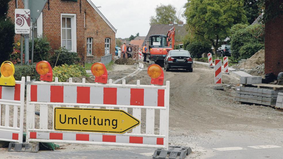
[(241, 59), (247, 59), (253, 56), (257, 51), (264, 49), (264, 44), (247, 43), (239, 50)]

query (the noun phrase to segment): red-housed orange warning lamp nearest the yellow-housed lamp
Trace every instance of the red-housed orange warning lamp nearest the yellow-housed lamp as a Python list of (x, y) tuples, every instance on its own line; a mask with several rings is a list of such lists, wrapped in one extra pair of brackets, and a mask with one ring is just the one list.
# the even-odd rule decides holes
[(41, 81), (52, 82), (52, 68), (47, 61), (40, 61), (36, 64), (36, 71), (40, 75)]

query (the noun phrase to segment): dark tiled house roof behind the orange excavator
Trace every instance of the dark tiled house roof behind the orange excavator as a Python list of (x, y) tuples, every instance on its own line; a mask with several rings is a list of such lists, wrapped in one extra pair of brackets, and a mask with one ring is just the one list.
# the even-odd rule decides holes
[(170, 30), (173, 27), (175, 27), (175, 41), (183, 40), (183, 38), (188, 34), (188, 32), (186, 31), (186, 24), (184, 24), (184, 25), (154, 24), (154, 25), (150, 26), (150, 29), (148, 31), (148, 34), (147, 34), (146, 39), (144, 40), (144, 43), (142, 44), (142, 46), (144, 46), (146, 44), (146, 41), (148, 41), (148, 38), (151, 35), (154, 35), (154, 34), (167, 35), (168, 30)]

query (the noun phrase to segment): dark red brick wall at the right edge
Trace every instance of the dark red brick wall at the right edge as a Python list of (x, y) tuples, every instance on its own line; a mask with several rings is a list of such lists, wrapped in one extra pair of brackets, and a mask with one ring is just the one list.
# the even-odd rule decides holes
[(265, 24), (265, 73), (280, 72), (283, 72), (283, 15)]

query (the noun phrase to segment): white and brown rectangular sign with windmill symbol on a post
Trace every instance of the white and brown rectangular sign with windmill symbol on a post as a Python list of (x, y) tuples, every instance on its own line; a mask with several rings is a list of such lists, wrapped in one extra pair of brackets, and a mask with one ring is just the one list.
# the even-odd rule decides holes
[(30, 33), (29, 9), (15, 9), (15, 33), (16, 34)]

